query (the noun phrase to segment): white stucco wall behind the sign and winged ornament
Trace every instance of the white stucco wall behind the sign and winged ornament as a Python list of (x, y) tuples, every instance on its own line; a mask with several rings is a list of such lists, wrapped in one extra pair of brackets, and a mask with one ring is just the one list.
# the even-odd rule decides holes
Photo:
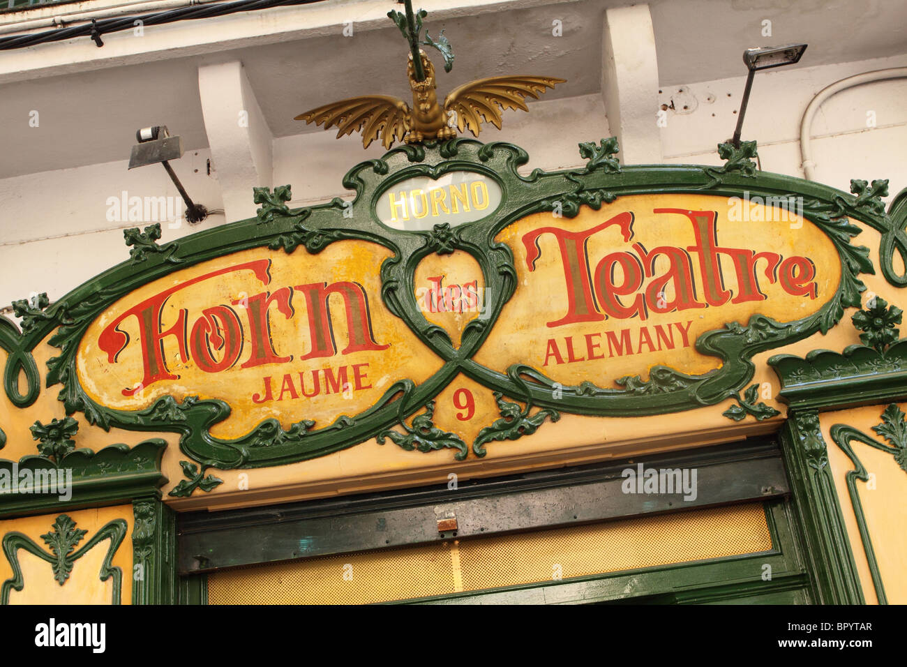
[[(372, 11), (374, 3), (368, 5)], [(603, 14), (595, 15), (595, 20), (603, 23)], [(53, 48), (56, 53), (57, 47)], [(148, 49), (149, 43), (143, 48)], [(601, 47), (598, 48), (598, 52), (588, 54), (590, 67), (601, 67)], [(648, 48), (651, 49), (650, 44)], [(845, 57), (846, 48), (843, 54)], [(638, 55), (625, 51), (623, 57)], [(92, 56), (96, 57), (96, 54), (92, 53)], [(161, 56), (153, 57), (160, 59)], [(814, 94), (845, 76), (905, 65), (907, 44), (900, 55), (813, 67), (801, 65), (757, 74), (743, 138), (759, 142), (763, 169), (800, 176), (803, 173), (800, 169), (800, 119)], [(8, 60), (4, 66), (10, 67)], [(716, 144), (726, 141), (734, 131), (734, 111), (744, 88), (742, 64), (739, 70), (741, 75), (730, 79), (661, 84), (658, 103), (670, 105), (675, 101), (675, 108), (667, 111), (665, 127), (658, 127), (658, 109), (650, 110), (651, 132), (658, 136), (664, 162), (720, 163)], [(261, 101), (261, 83), (253, 81), (247, 89), (243, 90), (243, 97), (258, 94), (258, 101)], [(678, 93), (681, 89), (684, 92)], [(196, 88), (181, 91), (178, 96), (196, 99), (199, 94)], [(0, 99), (2, 95), (3, 84), (0, 83)], [(579, 166), (583, 161), (577, 152), (578, 142), (597, 142), (614, 133), (609, 126), (609, 113), (603, 102), (605, 97), (598, 92), (534, 102), (532, 113), (507, 113), (503, 130), (488, 126), (481, 139), (510, 141), (522, 146), (530, 154), (528, 169)], [(714, 101), (709, 101), (711, 98)], [(692, 107), (688, 113), (681, 113), (677, 103), (680, 100)], [(207, 102), (203, 101), (203, 106)], [(65, 99), (60, 101), (61, 105), (66, 103)], [(874, 127), (867, 126), (868, 112), (874, 113)], [(0, 115), (3, 113), (4, 108), (0, 105)], [(102, 119), (98, 122), (102, 123)], [(140, 124), (137, 122), (137, 126)], [(259, 132), (249, 140), (252, 144), (258, 142), (258, 145), (250, 144), (249, 150), (259, 161), (262, 155), (270, 155), (271, 182), (292, 185), (293, 205), (348, 195), (340, 182), (343, 174), (356, 162), (383, 152), (377, 142), (364, 151), (357, 135), (336, 141), (334, 132), (303, 130), (300, 123), (300, 133), (268, 140), (269, 135)], [(867, 84), (836, 95), (816, 116), (813, 136), (816, 180), (846, 191), (852, 178), (887, 178), (891, 181), (893, 196), (907, 187), (907, 162), (903, 159), (907, 148), (907, 80)], [(118, 137), (118, 141), (121, 139)], [(263, 141), (269, 141), (270, 145), (263, 148), (260, 145)], [(43, 150), (51, 149), (45, 147)], [(120, 162), (21, 173), (0, 179), (0, 308), (33, 292), (46, 291), (52, 301), (59, 299), (83, 281), (126, 259), (129, 249), (123, 243), (122, 230), (144, 227), (154, 220), (130, 220), (128, 211), (120, 220), (108, 220), (111, 198), (119, 199), (123, 191), (130, 197), (179, 198), (161, 167), (152, 165), (128, 172), (128, 150), (123, 153)], [(219, 181), (216, 161), (213, 171), (208, 173), (210, 157), (207, 148), (192, 147), (181, 160), (172, 164), (190, 195), (215, 212), (197, 226), (190, 226), (185, 221), (163, 221), (161, 242), (227, 221), (222, 212), (225, 186)], [(14, 154), (4, 152), (0, 145), (0, 161), (15, 159)], [(13, 166), (12, 172), (15, 172), (15, 164)], [(267, 165), (264, 170), (267, 171)], [(237, 193), (229, 191), (228, 194), (232, 197)], [(252, 199), (250, 189), (239, 196)], [(181, 202), (179, 206), (182, 211)]]

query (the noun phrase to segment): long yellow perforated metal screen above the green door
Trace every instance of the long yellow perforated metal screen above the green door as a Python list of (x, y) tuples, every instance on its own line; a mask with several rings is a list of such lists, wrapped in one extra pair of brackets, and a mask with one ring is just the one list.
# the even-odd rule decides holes
[(210, 574), (212, 604), (357, 604), (752, 554), (772, 548), (761, 503), (514, 535), (249, 565)]

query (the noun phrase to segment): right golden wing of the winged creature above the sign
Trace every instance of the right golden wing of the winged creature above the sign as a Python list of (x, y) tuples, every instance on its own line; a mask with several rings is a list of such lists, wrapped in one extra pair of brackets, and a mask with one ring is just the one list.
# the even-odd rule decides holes
[[(539, 99), (545, 88), (565, 79), (553, 76), (492, 76), (477, 79), (455, 88), (444, 99), (444, 111), (456, 113), (456, 126), (460, 132), (468, 128), (479, 136), (482, 123), (492, 123), (501, 129), (501, 112), (505, 109), (529, 111), (524, 100), (531, 95)], [(498, 107), (501, 109), (498, 109)]]

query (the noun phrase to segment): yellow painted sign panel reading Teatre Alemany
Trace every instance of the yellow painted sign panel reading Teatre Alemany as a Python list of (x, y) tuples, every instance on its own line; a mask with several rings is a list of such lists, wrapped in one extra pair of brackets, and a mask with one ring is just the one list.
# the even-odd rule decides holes
[(805, 318), (831, 299), (841, 262), (822, 231), (765, 206), (735, 221), (734, 207), (715, 195), (634, 195), (510, 225), (497, 240), (513, 250), (518, 286), (475, 359), (569, 385), (646, 378), (657, 364), (700, 374), (720, 366), (693, 347), (702, 333), (755, 313)]

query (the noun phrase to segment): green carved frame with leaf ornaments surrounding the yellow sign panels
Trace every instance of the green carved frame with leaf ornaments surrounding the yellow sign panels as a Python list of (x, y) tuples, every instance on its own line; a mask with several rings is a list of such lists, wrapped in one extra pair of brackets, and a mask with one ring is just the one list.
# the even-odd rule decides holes
[[(851, 243), (860, 228), (851, 224), (848, 217), (882, 233), (883, 275), (892, 285), (907, 285), (907, 273), (897, 274), (892, 264), (894, 252), (907, 259), (907, 235), (903, 231), (907, 222), (907, 191), (892, 202), (891, 211), (886, 213), (881, 197), (887, 193), (887, 181), (873, 181), (872, 185), (852, 181), (853, 194), (849, 195), (812, 181), (757, 172), (751, 159), (756, 156), (755, 142), (744, 142), (739, 149), (721, 144), (719, 152), (727, 161), (722, 167), (621, 166), (613, 157), (617, 150), (613, 138), (603, 140), (598, 146), (583, 143), (580, 154), (588, 159), (585, 168), (563, 172), (536, 169), (523, 176), (518, 169), (528, 162), (528, 155), (512, 144), (453, 139), (405, 145), (387, 152), (381, 159), (361, 162), (346, 174), (344, 185), (356, 192), (352, 204), (336, 198), (325, 204), (290, 210), (286, 203), (290, 200), (289, 186), (273, 192), (256, 189), (255, 200), (262, 206), (255, 219), (202, 231), (164, 245), (157, 243), (161, 237), (160, 226), (152, 225), (144, 232), (127, 230), (125, 237), (132, 246), (130, 260), (74, 289), (49, 308), (44, 308), (45, 298), (31, 304), (17, 301), (16, 315), (23, 318), (21, 334), (11, 322), (0, 319), (0, 347), (9, 353), (5, 390), (19, 407), (34, 402), (39, 387), (31, 350), (53, 332), (49, 342), (60, 348), (60, 354), (48, 362), (46, 385), (63, 386), (59, 398), (66, 413), (82, 412), (89, 423), (104, 429), (121, 427), (180, 434), (180, 450), (191, 461), (183, 462), (187, 479), (171, 495), (190, 495), (196, 488), (210, 490), (219, 484), (217, 477), (205, 476), (210, 466), (221, 469), (277, 466), (325, 456), (370, 437), (395, 432), (391, 429), (400, 424), (414, 436), (407, 440), (408, 448), (431, 451), (441, 446), (453, 447), (459, 450), (457, 458), (462, 459), (467, 454), (465, 444), (458, 437), (450, 438), (452, 434), (434, 428), (430, 416), (417, 434), (405, 424), (406, 418), (428, 405), (460, 373), (502, 396), (524, 403), (520, 418), (528, 417), (532, 407), (547, 410), (552, 420), (561, 411), (600, 416), (654, 415), (714, 405), (728, 398), (736, 399), (747, 414), (769, 416), (758, 406), (747, 409), (748, 399), (741, 400), (739, 396), (754, 375), (753, 356), (833, 327), (843, 317), (845, 308), (860, 304), (860, 293), (865, 287), (858, 275), (874, 272), (868, 259), (869, 250)], [(392, 230), (375, 221), (375, 197), (387, 187), (414, 176), (436, 178), (452, 171), (482, 172), (497, 181), (503, 192), (498, 210), (480, 221), (453, 229), (436, 225), (433, 231), (424, 232)], [(512, 251), (494, 240), (513, 221), (538, 211), (557, 210), (573, 217), (581, 206), (598, 210), (602, 202), (632, 194), (686, 192), (732, 197), (744, 191), (751, 196), (801, 197), (805, 219), (823, 231), (838, 250), (841, 283), (813, 316), (782, 323), (754, 315), (746, 325), (728, 323), (725, 328), (708, 331), (696, 341), (699, 352), (722, 360), (721, 368), (701, 376), (689, 376), (672, 368), (655, 367), (648, 380), (639, 376), (616, 378), (621, 388), (603, 388), (591, 382), (560, 387), (533, 368), (518, 365), (499, 372), (473, 361), (473, 354), (482, 346), (516, 287)], [(353, 211), (352, 218), (344, 215), (348, 210)], [(79, 386), (74, 368), (79, 340), (103, 309), (132, 289), (173, 270), (237, 250), (268, 247), (290, 253), (304, 246), (305, 251), (317, 253), (336, 240), (346, 239), (374, 242), (393, 251), (394, 256), (381, 266), (385, 306), (444, 359), (444, 366), (423, 384), (416, 386), (411, 380), (400, 380), (374, 406), (354, 417), (338, 417), (333, 424), (314, 425), (302, 420), (284, 430), (277, 420), (268, 419), (246, 436), (234, 440), (210, 435), (210, 427), (229, 415), (229, 406), (223, 401), (186, 397), (177, 403), (167, 396), (159, 398), (151, 407), (129, 412), (94, 403)], [(419, 260), (433, 252), (445, 254), (453, 250), (463, 250), (479, 263), (491, 313), (489, 319), (473, 320), (466, 327), (459, 348), (453, 347), (443, 329), (424, 319), (412, 289), (414, 267)], [(22, 375), (27, 390), (19, 394), (17, 383)], [(485, 432), (488, 436), (485, 441), (512, 439), (526, 432), (518, 427), (511, 433), (514, 415), (502, 411), (502, 417), (490, 425), (491, 433)], [(483, 443), (473, 443), (475, 456), (482, 456), (483, 452)]]

